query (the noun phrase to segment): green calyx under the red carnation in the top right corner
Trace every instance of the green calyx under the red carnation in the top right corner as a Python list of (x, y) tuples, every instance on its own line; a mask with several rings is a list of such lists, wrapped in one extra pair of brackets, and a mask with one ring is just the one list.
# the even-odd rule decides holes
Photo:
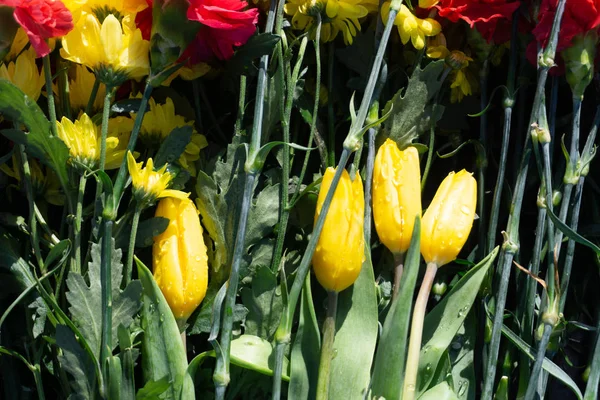
[(561, 53), (565, 60), (567, 82), (573, 95), (579, 98), (583, 98), (583, 93), (594, 75), (597, 43), (598, 34), (596, 31), (589, 31), (585, 36), (576, 36), (571, 47)]

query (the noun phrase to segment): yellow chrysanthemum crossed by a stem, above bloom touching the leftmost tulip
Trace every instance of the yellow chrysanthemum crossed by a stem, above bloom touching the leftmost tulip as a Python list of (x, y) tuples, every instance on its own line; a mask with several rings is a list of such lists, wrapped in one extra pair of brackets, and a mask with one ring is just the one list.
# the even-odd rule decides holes
[[(94, 168), (100, 161), (100, 129), (88, 117), (87, 114), (81, 114), (74, 123), (63, 117), (60, 122), (56, 122), (58, 137), (69, 148), (71, 157), (76, 163), (83, 164), (88, 168)], [(127, 141), (120, 145), (118, 134), (111, 132), (106, 138), (106, 164), (105, 169), (115, 169), (121, 166), (121, 161), (125, 155), (124, 147)]]

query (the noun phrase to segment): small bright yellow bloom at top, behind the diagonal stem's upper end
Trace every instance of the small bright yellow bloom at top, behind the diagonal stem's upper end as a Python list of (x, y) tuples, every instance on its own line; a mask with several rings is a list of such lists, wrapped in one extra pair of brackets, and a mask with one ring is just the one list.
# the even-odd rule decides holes
[[(390, 2), (385, 2), (381, 7), (381, 18), (384, 23), (387, 22), (389, 13)], [(439, 22), (433, 18), (417, 18), (404, 4), (400, 6), (394, 25), (398, 27), (402, 43), (406, 44), (410, 40), (417, 50), (425, 47), (426, 36), (435, 36), (442, 31)]]

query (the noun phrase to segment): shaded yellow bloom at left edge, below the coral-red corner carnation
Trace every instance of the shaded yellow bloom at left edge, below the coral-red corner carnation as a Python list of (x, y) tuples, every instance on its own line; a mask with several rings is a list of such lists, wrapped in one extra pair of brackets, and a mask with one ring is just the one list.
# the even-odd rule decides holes
[(44, 73), (35, 63), (36, 52), (33, 48), (24, 51), (17, 60), (0, 65), (0, 78), (10, 81), (33, 101), (37, 101), (44, 86)]

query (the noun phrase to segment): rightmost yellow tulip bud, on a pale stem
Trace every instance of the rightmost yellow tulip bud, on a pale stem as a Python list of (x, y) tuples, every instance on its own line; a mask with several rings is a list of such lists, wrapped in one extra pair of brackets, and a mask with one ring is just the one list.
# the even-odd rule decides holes
[(421, 222), (421, 254), (438, 267), (454, 261), (467, 241), (477, 205), (477, 182), (471, 173), (450, 172)]

